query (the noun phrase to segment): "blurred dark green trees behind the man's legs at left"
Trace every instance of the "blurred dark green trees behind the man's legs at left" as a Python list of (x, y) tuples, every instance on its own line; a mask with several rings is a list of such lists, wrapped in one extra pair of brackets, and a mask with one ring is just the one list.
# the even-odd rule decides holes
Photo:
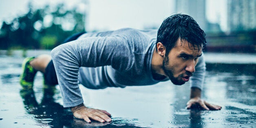
[(84, 16), (75, 8), (66, 10), (64, 4), (35, 10), (29, 4), (28, 13), (2, 23), (0, 49), (53, 49), (68, 36), (85, 31)]

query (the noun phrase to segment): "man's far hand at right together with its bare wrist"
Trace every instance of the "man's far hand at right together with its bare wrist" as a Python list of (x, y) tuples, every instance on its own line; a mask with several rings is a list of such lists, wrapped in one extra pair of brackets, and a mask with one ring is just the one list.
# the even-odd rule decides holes
[(190, 92), (190, 100), (187, 103), (186, 108), (203, 108), (205, 110), (221, 110), (221, 106), (207, 103), (201, 97), (201, 89), (192, 87)]

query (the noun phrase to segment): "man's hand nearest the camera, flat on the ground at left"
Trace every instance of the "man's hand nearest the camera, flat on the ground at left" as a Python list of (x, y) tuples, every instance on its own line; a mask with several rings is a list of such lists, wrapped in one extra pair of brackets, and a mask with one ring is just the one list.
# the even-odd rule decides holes
[(84, 104), (80, 104), (78, 106), (72, 107), (71, 111), (74, 117), (79, 119), (84, 119), (88, 123), (91, 122), (90, 119), (93, 119), (102, 123), (105, 121), (110, 122), (112, 120), (109, 117), (111, 115), (106, 110), (86, 108)]

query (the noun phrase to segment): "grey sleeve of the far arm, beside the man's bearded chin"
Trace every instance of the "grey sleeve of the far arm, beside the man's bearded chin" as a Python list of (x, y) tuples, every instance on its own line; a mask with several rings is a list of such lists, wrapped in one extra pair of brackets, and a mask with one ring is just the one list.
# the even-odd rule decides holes
[(199, 57), (198, 63), (195, 67), (195, 72), (193, 73), (193, 76), (190, 80), (190, 88), (196, 87), (199, 89), (203, 89), (203, 82), (205, 78), (205, 70), (206, 70), (206, 64), (205, 64), (205, 58), (204, 54), (202, 53), (202, 56)]

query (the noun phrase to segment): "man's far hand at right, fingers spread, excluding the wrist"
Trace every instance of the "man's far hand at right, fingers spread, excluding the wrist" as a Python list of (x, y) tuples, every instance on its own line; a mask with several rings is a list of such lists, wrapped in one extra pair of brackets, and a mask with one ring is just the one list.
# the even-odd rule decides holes
[(191, 98), (188, 101), (187, 106), (186, 106), (187, 109), (197, 108), (197, 107), (201, 107), (204, 110), (221, 110), (221, 106), (207, 103), (206, 101), (204, 101), (200, 97)]

